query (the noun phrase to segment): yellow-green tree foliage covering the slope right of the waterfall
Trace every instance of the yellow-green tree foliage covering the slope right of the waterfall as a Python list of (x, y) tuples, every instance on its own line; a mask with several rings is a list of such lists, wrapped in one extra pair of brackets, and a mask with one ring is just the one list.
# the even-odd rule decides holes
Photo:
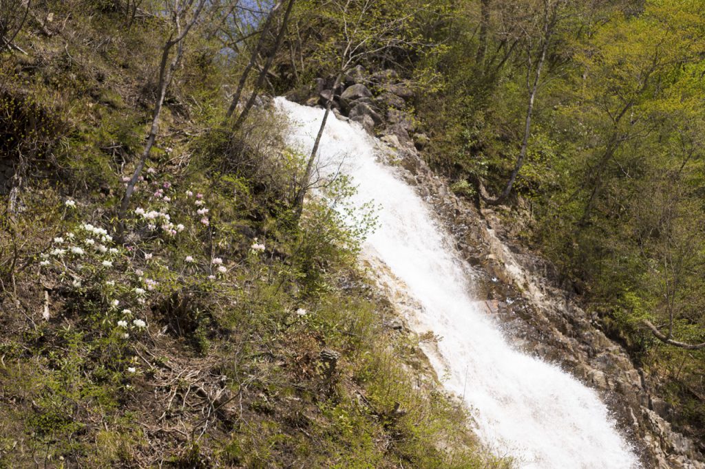
[[(524, 125), (526, 51), (540, 37), (535, 4), (486, 5), (485, 18), (479, 2), (453, 5), (453, 24), (431, 33), (444, 49), (417, 63), (438, 74), (417, 102), (425, 156), (460, 193), (477, 180), (489, 192), (505, 185)], [(531, 202), (536, 249), (668, 383), (675, 408), (688, 409), (679, 423), (697, 428), (702, 351), (682, 354), (642, 321), (705, 342), (705, 4), (563, 7), (515, 194)]]

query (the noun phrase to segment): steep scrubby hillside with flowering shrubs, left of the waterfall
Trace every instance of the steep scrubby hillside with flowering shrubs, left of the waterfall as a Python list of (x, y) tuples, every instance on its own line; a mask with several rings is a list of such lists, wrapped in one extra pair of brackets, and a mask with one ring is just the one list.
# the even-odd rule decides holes
[(119, 216), (162, 13), (32, 2), (0, 52), (0, 465), (503, 467), (357, 269), (372, 214), (350, 230), (311, 200), (299, 218), (286, 120), (222, 124), (246, 61), (212, 23)]

